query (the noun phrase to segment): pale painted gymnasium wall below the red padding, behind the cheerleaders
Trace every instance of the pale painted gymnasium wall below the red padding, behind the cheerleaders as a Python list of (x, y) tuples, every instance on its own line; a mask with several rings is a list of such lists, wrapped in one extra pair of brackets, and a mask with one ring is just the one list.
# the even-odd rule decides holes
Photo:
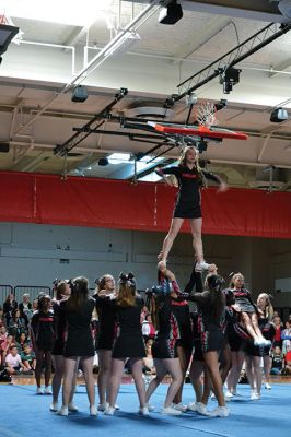
[[(48, 285), (55, 277), (89, 277), (132, 270), (139, 288), (156, 280), (156, 255), (165, 234), (74, 226), (0, 223), (0, 284)], [(245, 274), (254, 297), (273, 293), (277, 277), (291, 276), (291, 240), (251, 237), (203, 236), (205, 255), (228, 277)], [(193, 265), (189, 234), (178, 235), (171, 252), (171, 267), (181, 285)], [(276, 305), (291, 307), (291, 294), (276, 295)]]

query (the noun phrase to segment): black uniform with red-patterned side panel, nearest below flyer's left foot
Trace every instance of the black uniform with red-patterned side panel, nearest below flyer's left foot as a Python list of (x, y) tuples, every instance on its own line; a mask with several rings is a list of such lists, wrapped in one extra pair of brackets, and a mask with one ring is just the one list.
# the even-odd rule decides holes
[(161, 296), (159, 300), (159, 330), (152, 345), (152, 356), (159, 359), (177, 358), (177, 342), (181, 333), (171, 305), (171, 296), (168, 294)]

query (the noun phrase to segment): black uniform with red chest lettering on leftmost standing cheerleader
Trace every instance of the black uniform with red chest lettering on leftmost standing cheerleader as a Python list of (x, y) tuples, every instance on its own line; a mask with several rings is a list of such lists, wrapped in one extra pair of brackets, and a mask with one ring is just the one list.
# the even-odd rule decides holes
[(34, 342), (40, 351), (53, 351), (55, 341), (55, 329), (54, 329), (54, 312), (53, 311), (35, 311), (31, 328), (33, 331)]

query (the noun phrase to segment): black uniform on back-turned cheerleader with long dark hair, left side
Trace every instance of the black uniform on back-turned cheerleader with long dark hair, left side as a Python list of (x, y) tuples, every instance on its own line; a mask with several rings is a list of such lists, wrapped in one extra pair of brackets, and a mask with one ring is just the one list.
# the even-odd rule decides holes
[(65, 356), (94, 356), (95, 349), (91, 331), (92, 311), (95, 299), (88, 297), (80, 312), (73, 312), (67, 308), (68, 300), (62, 300), (60, 308), (65, 311), (68, 322), (68, 336), (65, 345)]

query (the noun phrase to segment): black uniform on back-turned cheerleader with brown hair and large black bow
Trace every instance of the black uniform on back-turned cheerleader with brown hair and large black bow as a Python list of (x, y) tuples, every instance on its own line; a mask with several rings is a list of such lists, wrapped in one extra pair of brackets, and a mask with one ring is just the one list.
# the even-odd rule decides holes
[(140, 314), (143, 299), (136, 296), (132, 307), (115, 306), (117, 335), (113, 345), (113, 358), (143, 358), (144, 342), (141, 331)]

